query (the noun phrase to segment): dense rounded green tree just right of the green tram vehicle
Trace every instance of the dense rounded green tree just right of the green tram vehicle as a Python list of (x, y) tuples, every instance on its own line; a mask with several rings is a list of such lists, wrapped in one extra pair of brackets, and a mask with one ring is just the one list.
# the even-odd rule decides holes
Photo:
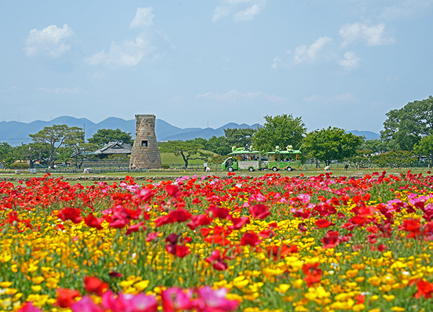
[(325, 162), (325, 165), (329, 166), (332, 160), (343, 160), (354, 156), (363, 141), (363, 137), (329, 126), (327, 129), (323, 128), (308, 133), (302, 148), (309, 153), (310, 157)]

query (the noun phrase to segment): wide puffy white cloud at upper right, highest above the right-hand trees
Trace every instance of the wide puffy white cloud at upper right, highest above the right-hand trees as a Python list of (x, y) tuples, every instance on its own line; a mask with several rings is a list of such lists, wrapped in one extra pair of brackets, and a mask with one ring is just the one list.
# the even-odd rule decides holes
[(368, 26), (367, 23), (347, 23), (340, 28), (340, 36), (345, 39), (343, 46), (350, 43), (364, 42), (365, 46), (385, 46), (394, 43), (395, 39), (385, 33), (385, 23)]

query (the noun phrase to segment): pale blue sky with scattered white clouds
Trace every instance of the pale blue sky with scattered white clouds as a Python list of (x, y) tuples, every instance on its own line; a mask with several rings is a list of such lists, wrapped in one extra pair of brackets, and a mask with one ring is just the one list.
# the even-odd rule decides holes
[(383, 127), (433, 94), (433, 0), (1, 1), (0, 120), (301, 116)]

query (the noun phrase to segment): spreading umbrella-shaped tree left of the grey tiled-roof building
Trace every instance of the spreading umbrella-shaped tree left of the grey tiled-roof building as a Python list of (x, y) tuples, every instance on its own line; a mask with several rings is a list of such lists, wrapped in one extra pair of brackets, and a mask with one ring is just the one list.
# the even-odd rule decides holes
[(84, 137), (84, 132), (78, 127), (68, 127), (66, 124), (45, 127), (34, 135), (30, 135), (33, 143), (42, 144), (48, 150), (48, 164), (54, 168), (55, 155), (59, 148)]

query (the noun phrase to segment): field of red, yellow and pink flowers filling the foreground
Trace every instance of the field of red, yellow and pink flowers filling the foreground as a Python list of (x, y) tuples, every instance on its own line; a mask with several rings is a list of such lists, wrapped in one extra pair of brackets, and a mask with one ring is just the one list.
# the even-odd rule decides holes
[(0, 182), (1, 311), (433, 311), (433, 176)]

